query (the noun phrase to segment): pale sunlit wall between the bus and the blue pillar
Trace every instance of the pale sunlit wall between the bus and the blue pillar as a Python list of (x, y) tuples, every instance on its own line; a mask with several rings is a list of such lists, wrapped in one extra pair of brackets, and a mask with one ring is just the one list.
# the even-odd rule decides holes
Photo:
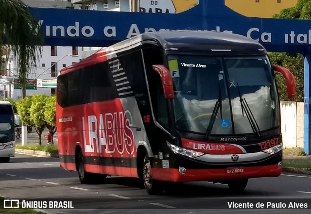
[(281, 101), (283, 147), (303, 148), (303, 102)]

